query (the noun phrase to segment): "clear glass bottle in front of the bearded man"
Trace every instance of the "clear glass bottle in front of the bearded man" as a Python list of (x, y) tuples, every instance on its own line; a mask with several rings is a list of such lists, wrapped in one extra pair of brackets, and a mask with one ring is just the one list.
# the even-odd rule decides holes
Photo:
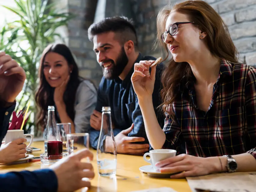
[(102, 176), (116, 174), (117, 147), (111, 122), (110, 107), (102, 107), (102, 121), (97, 145), (98, 173)]

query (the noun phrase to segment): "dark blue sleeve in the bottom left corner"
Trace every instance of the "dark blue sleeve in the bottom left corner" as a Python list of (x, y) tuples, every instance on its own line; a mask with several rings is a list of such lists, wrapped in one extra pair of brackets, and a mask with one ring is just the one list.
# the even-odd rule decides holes
[(51, 169), (0, 174), (0, 191), (4, 192), (55, 192), (57, 177)]

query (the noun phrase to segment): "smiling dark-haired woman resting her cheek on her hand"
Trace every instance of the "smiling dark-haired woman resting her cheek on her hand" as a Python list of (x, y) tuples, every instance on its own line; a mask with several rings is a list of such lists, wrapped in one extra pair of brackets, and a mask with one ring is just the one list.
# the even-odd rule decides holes
[(71, 132), (87, 132), (96, 101), (93, 83), (78, 75), (70, 49), (64, 44), (50, 44), (43, 52), (39, 67), (36, 103), (37, 126), (46, 126), (47, 108), (55, 106), (56, 121), (71, 123)]

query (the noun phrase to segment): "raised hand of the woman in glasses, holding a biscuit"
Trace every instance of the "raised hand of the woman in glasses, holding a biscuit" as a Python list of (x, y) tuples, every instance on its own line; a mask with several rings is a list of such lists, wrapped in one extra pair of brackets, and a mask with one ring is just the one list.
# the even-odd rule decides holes
[(131, 77), (131, 82), (138, 98), (152, 96), (153, 94), (156, 66), (151, 68), (150, 74), (149, 68), (152, 63), (154, 63), (153, 60), (140, 61), (139, 63), (134, 64), (134, 72)]

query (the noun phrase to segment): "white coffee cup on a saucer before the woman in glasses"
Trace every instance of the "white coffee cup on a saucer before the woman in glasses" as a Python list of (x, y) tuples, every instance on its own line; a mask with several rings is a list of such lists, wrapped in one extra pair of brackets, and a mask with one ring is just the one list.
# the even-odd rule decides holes
[[(150, 156), (150, 159), (146, 159), (146, 156)], [(150, 163), (154, 169), (157, 169), (155, 164), (158, 161), (162, 161), (164, 159), (167, 159), (169, 157), (176, 156), (176, 150), (173, 149), (154, 149), (149, 151), (149, 153), (145, 153), (143, 156), (143, 159)]]

